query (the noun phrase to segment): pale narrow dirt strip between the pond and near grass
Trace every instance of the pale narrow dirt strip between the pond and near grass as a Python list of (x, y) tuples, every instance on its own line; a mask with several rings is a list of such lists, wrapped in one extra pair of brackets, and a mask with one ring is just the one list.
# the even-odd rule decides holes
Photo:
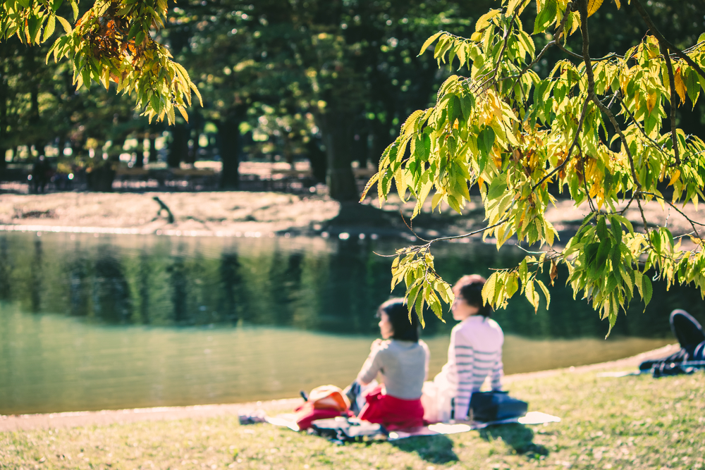
[[(656, 359), (673, 354), (680, 347), (667, 345), (656, 350), (642, 352), (632, 357), (615, 361), (570, 366), (562, 369), (516, 373), (504, 377), (504, 384), (517, 381), (536, 380), (555, 376), (558, 373), (586, 373), (601, 369), (618, 367), (633, 368), (645, 359)], [(136, 409), (102, 410), (97, 412), (61, 412), (46, 414), (0, 415), (0, 433), (32, 431), (35, 429), (75, 428), (80, 426), (109, 426), (111, 424), (137, 423), (140, 421), (171, 421), (176, 419), (207, 419), (219, 416), (237, 416), (241, 411), (285, 411), (301, 404), (301, 398), (284, 398), (280, 400), (228, 403), (197, 404), (183, 407), (153, 407)]]

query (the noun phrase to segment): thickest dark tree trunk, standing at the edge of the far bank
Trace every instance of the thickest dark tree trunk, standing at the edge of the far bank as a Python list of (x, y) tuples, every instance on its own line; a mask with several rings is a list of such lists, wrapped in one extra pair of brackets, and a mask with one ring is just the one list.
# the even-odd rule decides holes
[(328, 173), (326, 183), (333, 199), (336, 201), (357, 201), (357, 192), (352, 159), (354, 133), (354, 116), (341, 111), (329, 111), (319, 116), (321, 133), (326, 145)]

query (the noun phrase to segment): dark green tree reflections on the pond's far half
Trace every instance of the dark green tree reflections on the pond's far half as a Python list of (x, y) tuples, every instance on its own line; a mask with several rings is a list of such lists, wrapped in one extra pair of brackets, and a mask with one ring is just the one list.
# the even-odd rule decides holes
[[(376, 333), (374, 313), (389, 297), (393, 245), (340, 240), (317, 251), (312, 244), (288, 249), (283, 242), (252, 240), (204, 256), (187, 245), (165, 253), (172, 240), (149, 248), (116, 251), (92, 238), (62, 243), (60, 235), (11, 234), (0, 237), (0, 299), (17, 300), (24, 311), (65, 312), (106, 323), (246, 323), (293, 326), (332, 333)], [(68, 235), (67, 235), (68, 236)], [(319, 240), (320, 241), (320, 240)], [(400, 242), (401, 245), (403, 242)], [(198, 245), (198, 244), (197, 244)], [(320, 248), (320, 247), (319, 247)], [(507, 247), (510, 248), (510, 247)], [(517, 264), (524, 252), (490, 245), (439, 245), (436, 268), (447, 280), (463, 274), (489, 276), (491, 269)], [(494, 313), (506, 333), (527, 338), (603, 337), (608, 328), (588, 302), (572, 299), (559, 272), (548, 311), (517, 294), (506, 310)], [(548, 283), (548, 279), (544, 279)], [(398, 291), (399, 292), (399, 291)], [(670, 335), (668, 314), (675, 308), (705, 320), (697, 290), (654, 282), (646, 313), (637, 298), (620, 314), (613, 335)], [(424, 335), (446, 335), (455, 322), (426, 315)]]

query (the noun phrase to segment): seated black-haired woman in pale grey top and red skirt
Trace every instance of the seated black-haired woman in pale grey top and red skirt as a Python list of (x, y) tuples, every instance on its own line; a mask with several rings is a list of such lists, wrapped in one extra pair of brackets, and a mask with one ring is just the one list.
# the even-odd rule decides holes
[(391, 299), (377, 311), (383, 339), (374, 340), (357, 383), (367, 385), (377, 373), (382, 384), (367, 393), (358, 418), (388, 430), (423, 425), (421, 393), (429, 370), (429, 348), (419, 340), (419, 319), (404, 299)]

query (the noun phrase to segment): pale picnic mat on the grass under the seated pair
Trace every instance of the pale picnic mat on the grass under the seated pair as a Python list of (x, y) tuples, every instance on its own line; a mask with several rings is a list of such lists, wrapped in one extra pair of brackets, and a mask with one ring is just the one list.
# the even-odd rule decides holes
[[(277, 416), (266, 416), (264, 417), (264, 421), (270, 424), (274, 424), (274, 426), (283, 426), (292, 429), (293, 431), (299, 431), (299, 426), (297, 426), (296, 424), (294, 414), (278, 414)], [(417, 435), (467, 433), (467, 431), (482, 429), (486, 428), (487, 426), (494, 426), (496, 424), (543, 424), (558, 423), (559, 421), (560, 418), (558, 418), (558, 416), (553, 416), (551, 414), (541, 412), (528, 412), (526, 416), (522, 416), (520, 418), (503, 419), (501, 421), (489, 421), (486, 423), (480, 421), (473, 421), (470, 424), (436, 423), (430, 424), (429, 426), (421, 426), (419, 428), (410, 429), (407, 431), (391, 431), (387, 437), (387, 440), (400, 440), (411, 438)]]

